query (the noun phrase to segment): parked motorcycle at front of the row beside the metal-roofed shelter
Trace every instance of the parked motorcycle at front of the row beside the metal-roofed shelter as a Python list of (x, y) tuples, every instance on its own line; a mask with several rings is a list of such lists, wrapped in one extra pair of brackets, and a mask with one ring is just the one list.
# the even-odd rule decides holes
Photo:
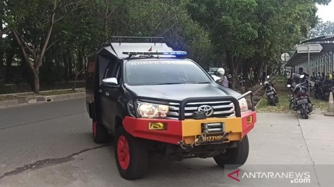
[(298, 84), (296, 86), (287, 85), (292, 93), (290, 108), (295, 110), (297, 115), (302, 115), (305, 119), (308, 119), (308, 115), (313, 111), (313, 104), (308, 97), (308, 82), (301, 82), (304, 75), (293, 74), (292, 76), (298, 81)]

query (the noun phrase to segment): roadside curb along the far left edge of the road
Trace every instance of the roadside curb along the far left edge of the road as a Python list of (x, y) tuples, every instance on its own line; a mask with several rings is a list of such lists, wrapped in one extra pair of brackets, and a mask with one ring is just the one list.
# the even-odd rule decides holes
[(35, 98), (24, 98), (24, 99), (16, 99), (16, 100), (7, 100), (0, 101), (0, 109), (12, 106), (24, 106), (34, 103), (49, 103), (53, 101), (63, 101), (69, 99), (78, 99), (84, 98), (86, 96), (85, 92), (77, 92), (77, 93), (66, 93), (54, 96), (39, 96)]

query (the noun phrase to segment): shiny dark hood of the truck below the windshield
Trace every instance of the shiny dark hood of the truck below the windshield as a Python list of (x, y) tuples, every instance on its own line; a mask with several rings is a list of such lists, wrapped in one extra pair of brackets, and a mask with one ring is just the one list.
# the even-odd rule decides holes
[(220, 97), (220, 96), (240, 96), (240, 93), (233, 89), (211, 84), (168, 84), (168, 85), (125, 85), (126, 89), (137, 96), (170, 99), (182, 101), (186, 98), (195, 97)]

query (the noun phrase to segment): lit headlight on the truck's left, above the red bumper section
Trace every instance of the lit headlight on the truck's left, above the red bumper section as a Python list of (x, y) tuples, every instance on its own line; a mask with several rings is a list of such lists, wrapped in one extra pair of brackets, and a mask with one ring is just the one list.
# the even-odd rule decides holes
[(166, 118), (169, 106), (138, 102), (138, 114), (141, 118)]

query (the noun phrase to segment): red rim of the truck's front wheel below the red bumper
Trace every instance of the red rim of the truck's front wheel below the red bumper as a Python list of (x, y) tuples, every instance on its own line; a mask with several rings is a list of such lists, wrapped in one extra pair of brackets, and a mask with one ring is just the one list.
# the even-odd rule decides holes
[(130, 150), (127, 139), (124, 135), (121, 135), (118, 138), (117, 143), (117, 156), (118, 162), (123, 170), (126, 170), (129, 167), (130, 163)]

